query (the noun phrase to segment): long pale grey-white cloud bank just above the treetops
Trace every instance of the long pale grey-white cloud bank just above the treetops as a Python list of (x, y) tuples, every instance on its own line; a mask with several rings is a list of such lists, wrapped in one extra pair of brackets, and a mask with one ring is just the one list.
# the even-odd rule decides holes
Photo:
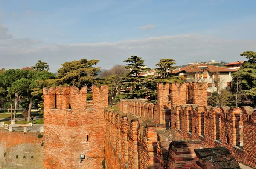
[(98, 66), (108, 69), (131, 55), (145, 59), (148, 67), (163, 58), (175, 59), (177, 65), (195, 61), (234, 62), (245, 60), (244, 51), (256, 51), (256, 40), (229, 40), (212, 36), (187, 34), (114, 43), (48, 44), (33, 39), (9, 39), (0, 43), (0, 68), (23, 68), (35, 65), (37, 60), (47, 62), (56, 72), (64, 62), (81, 58), (99, 59)]

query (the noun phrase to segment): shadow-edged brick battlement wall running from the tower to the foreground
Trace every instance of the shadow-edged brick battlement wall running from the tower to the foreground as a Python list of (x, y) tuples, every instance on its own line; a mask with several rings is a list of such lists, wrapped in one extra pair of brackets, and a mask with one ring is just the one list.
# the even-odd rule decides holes
[[(104, 117), (106, 169), (164, 169), (174, 163), (177, 168), (196, 167), (194, 149), (200, 140), (185, 141), (177, 130), (153, 118), (109, 110)], [(174, 140), (184, 145), (175, 142), (174, 147)]]

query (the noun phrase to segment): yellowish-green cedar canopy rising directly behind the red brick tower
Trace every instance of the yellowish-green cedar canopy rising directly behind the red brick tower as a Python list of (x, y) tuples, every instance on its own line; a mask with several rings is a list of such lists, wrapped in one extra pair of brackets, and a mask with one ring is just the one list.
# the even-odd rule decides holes
[(81, 88), (87, 85), (90, 87), (99, 72), (100, 67), (93, 67), (99, 60), (74, 60), (72, 62), (65, 62), (62, 68), (58, 70), (58, 83), (60, 85), (74, 85)]

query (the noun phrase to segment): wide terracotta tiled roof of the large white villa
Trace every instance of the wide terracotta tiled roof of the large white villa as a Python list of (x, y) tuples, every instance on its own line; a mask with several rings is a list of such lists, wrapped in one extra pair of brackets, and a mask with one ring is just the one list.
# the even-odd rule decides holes
[(184, 68), (177, 69), (173, 71), (173, 74), (180, 73), (180, 72), (204, 72), (206, 70), (202, 70), (200, 67), (205, 67), (205, 69), (209, 72), (235, 72), (237, 70), (232, 70), (224, 67), (218, 67), (218, 66), (212, 66), (212, 65), (206, 65), (206, 64), (197, 64), (197, 65), (189, 65)]

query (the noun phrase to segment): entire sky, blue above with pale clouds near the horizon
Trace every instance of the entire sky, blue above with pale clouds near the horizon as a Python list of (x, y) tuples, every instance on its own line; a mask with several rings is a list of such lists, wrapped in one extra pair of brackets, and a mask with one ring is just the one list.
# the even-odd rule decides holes
[(189, 62), (246, 60), (256, 51), (255, 0), (0, 0), (0, 69), (137, 55)]

